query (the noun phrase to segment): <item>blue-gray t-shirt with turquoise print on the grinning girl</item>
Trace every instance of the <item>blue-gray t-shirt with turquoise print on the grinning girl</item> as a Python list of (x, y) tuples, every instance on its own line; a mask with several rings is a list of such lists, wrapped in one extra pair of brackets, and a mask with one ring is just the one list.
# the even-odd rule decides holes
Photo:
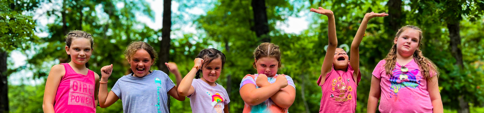
[(124, 113), (168, 113), (167, 92), (174, 86), (165, 72), (154, 70), (143, 77), (124, 75), (111, 91), (121, 99)]

